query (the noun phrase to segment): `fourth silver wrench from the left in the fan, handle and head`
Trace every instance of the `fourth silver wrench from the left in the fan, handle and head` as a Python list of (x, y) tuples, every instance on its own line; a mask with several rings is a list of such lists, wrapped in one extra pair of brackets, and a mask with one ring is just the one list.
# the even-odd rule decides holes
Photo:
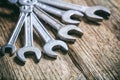
[(60, 39), (68, 41), (68, 42), (75, 42), (76, 38), (69, 35), (69, 34), (76, 34), (79, 37), (82, 37), (83, 33), (79, 27), (75, 25), (65, 25), (62, 24), (60, 21), (56, 20), (46, 12), (44, 12), (39, 7), (34, 8), (34, 12), (38, 15), (39, 18), (44, 20), (46, 23), (51, 25), (54, 29), (57, 30), (57, 35)]

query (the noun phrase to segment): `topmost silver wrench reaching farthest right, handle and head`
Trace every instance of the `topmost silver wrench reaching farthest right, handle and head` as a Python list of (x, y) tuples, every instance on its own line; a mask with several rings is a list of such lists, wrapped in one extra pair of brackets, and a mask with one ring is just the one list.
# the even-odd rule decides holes
[(63, 2), (60, 0), (38, 0), (39, 2), (56, 6), (63, 9), (73, 9), (85, 14), (87, 19), (91, 21), (102, 21), (103, 18), (108, 18), (111, 14), (110, 10), (104, 6), (81, 6), (72, 3)]

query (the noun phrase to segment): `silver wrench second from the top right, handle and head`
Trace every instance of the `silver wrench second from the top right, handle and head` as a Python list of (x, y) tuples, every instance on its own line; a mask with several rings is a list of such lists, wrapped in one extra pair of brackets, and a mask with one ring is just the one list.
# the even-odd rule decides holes
[(78, 24), (80, 21), (72, 20), (71, 17), (75, 16), (75, 17), (79, 17), (80, 19), (83, 17), (83, 14), (76, 10), (64, 11), (64, 10), (60, 10), (60, 9), (45, 5), (43, 3), (37, 3), (36, 6), (39, 6), (41, 9), (43, 9), (51, 14), (61, 17), (62, 21), (65, 23)]

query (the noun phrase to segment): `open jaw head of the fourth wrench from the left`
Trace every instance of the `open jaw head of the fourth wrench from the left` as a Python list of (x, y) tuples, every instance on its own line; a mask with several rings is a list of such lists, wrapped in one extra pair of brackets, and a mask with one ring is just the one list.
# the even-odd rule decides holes
[(60, 39), (72, 43), (76, 41), (76, 38), (73, 36), (74, 34), (81, 38), (83, 32), (79, 27), (76, 27), (75, 25), (66, 25), (58, 31), (58, 36)]

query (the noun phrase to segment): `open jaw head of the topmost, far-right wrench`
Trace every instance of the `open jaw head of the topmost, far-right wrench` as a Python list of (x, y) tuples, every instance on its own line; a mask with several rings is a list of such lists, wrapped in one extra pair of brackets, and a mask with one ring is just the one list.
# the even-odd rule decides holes
[(91, 21), (101, 22), (104, 18), (109, 18), (111, 12), (104, 6), (89, 7), (85, 11), (85, 16)]

